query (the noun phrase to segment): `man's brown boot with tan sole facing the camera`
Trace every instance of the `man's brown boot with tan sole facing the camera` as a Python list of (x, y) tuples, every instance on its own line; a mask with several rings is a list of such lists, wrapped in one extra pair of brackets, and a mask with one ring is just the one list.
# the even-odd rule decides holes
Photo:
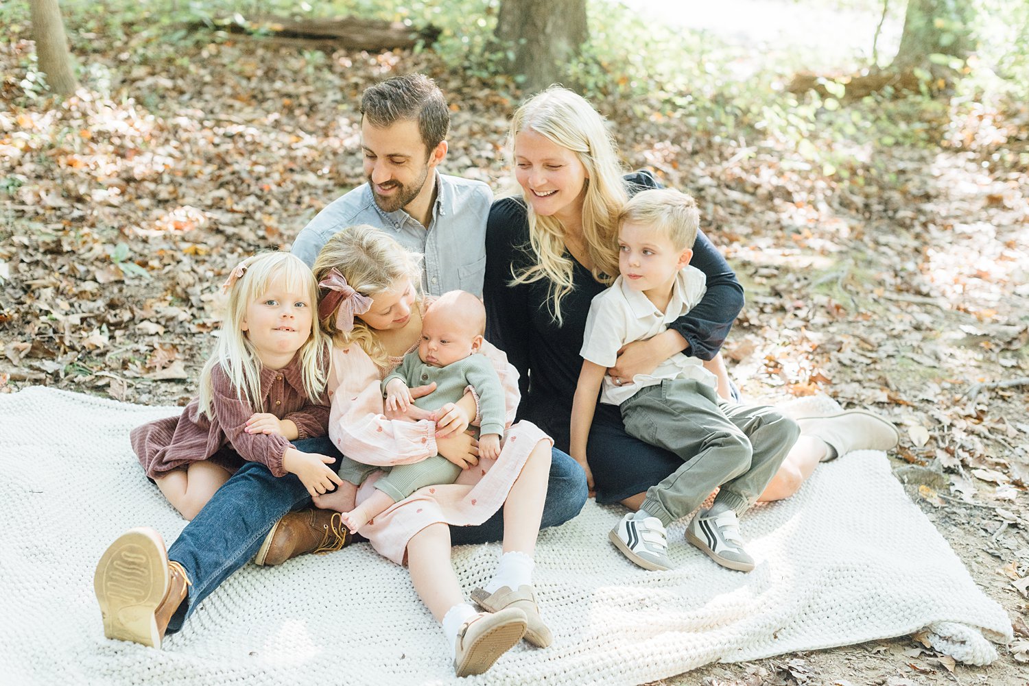
[(189, 585), (182, 566), (169, 562), (161, 534), (130, 529), (104, 551), (93, 577), (104, 636), (159, 648)]

